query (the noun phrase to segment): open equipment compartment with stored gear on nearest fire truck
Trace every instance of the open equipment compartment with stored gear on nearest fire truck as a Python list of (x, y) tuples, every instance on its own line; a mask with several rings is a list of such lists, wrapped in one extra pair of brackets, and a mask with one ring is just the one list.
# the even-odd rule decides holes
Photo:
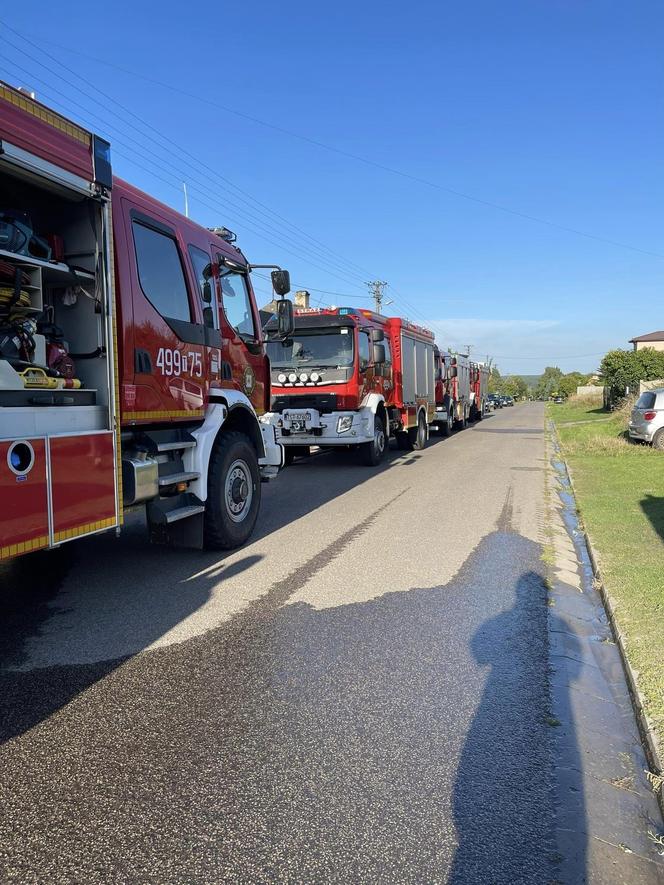
[(0, 407), (49, 410), (49, 432), (83, 408), (80, 429), (109, 429), (104, 206), (15, 167), (0, 175)]

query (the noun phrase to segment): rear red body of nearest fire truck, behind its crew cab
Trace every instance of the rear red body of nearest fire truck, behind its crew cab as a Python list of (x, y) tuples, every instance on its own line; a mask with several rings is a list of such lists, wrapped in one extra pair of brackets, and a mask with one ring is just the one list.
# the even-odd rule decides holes
[(0, 83), (0, 560), (120, 524), (111, 188), (105, 142)]

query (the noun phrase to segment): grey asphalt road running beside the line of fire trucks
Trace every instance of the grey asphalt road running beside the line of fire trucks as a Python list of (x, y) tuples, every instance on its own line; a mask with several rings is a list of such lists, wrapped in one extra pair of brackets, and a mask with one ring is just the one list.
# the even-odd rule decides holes
[(555, 878), (543, 407), (0, 572), (0, 881)]

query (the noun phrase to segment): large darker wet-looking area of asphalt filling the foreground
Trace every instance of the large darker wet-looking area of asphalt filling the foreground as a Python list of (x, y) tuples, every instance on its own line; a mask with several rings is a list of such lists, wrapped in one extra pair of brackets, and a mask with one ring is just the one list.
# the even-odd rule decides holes
[[(5, 766), (6, 819), (27, 815), (39, 783), (63, 878), (93, 865), (105, 881), (134, 868), (146, 882), (557, 878), (539, 547), (496, 531), (444, 586), (390, 592), (388, 576), (366, 601), (293, 602), (363, 530), (185, 645), (115, 673), (110, 662), (14, 674), (28, 682), (10, 713), (45, 691), (57, 707), (109, 675), (37, 733), (38, 746), (58, 742), (48, 778), (26, 747)], [(29, 842), (32, 873), (48, 851)]]

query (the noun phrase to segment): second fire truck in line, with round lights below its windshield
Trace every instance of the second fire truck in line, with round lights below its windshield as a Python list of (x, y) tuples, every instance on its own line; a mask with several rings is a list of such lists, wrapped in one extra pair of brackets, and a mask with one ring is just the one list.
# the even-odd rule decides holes
[[(269, 328), (269, 327), (268, 327)], [(353, 307), (295, 311), (295, 331), (268, 341), (272, 413), (287, 460), (311, 446), (359, 449), (380, 462), (391, 437), (424, 448), (434, 414), (428, 329)]]

